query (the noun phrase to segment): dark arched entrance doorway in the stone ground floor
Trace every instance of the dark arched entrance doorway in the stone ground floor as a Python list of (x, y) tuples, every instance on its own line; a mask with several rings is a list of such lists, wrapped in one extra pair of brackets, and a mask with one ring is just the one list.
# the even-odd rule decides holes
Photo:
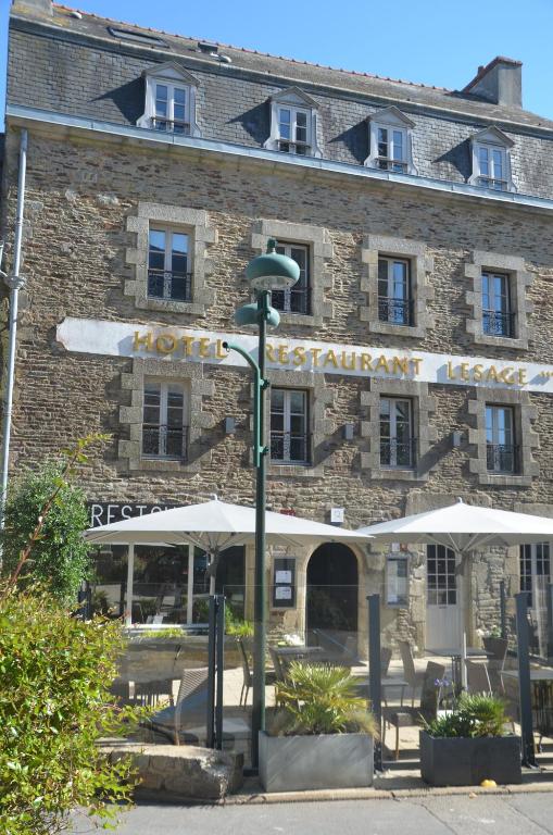
[(329, 543), (313, 551), (305, 603), (309, 644), (356, 643), (357, 587), (357, 559), (348, 546)]

